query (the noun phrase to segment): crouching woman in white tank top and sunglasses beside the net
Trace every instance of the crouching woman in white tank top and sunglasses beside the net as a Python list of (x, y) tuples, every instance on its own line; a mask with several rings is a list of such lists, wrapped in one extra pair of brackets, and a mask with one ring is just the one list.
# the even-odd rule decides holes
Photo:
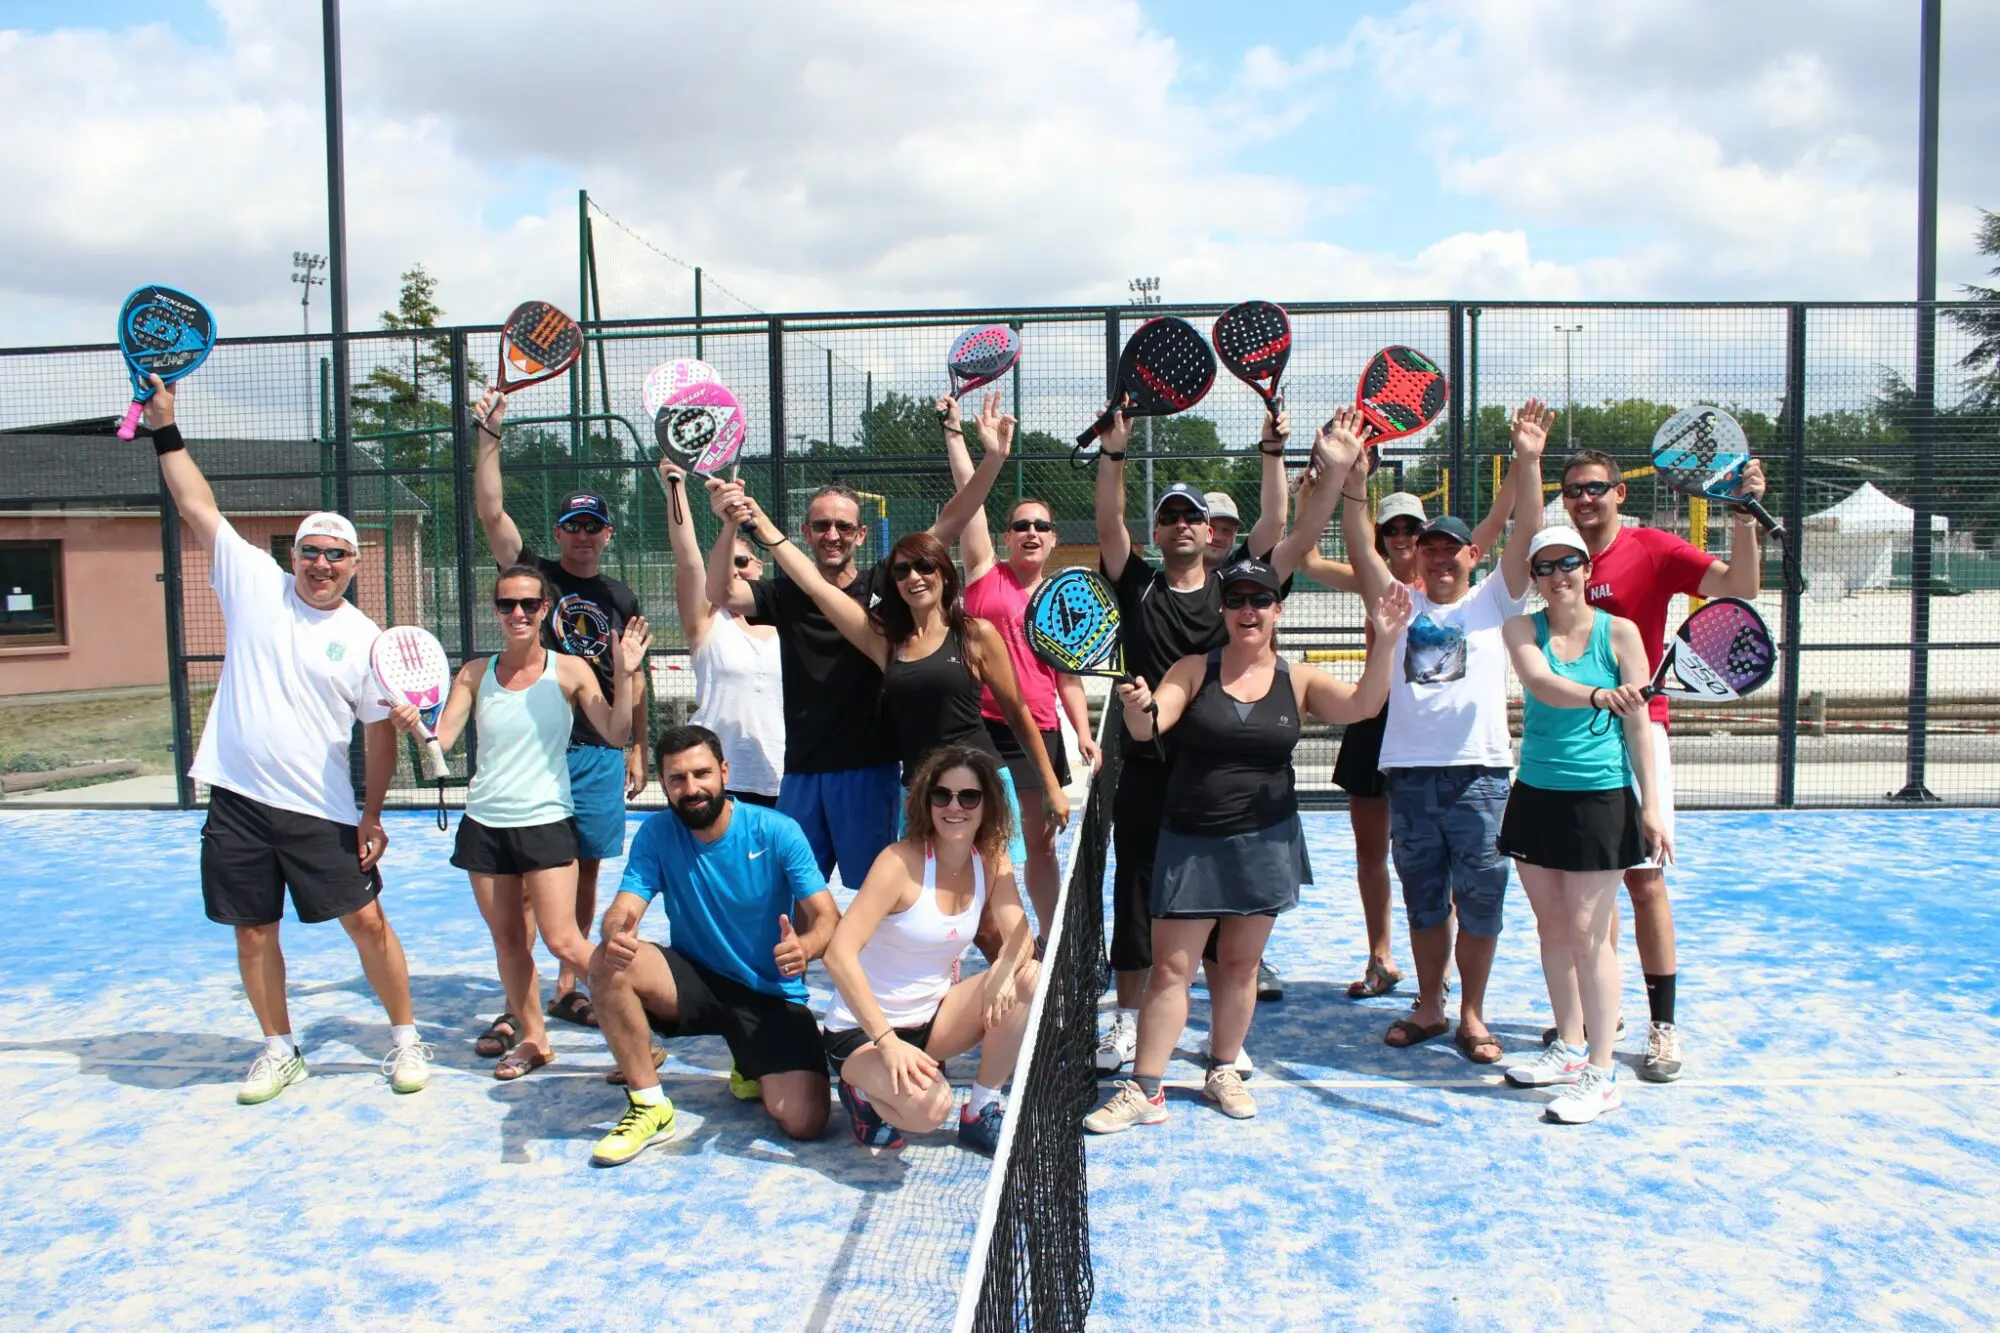
[[(1000, 765), (948, 745), (910, 783), (908, 833), (890, 843), (826, 947), (840, 993), (826, 1013), (826, 1057), (864, 1147), (940, 1129), (952, 1115), (942, 1061), (980, 1047), (958, 1141), (988, 1157), (1000, 1143), (1000, 1087), (1014, 1073), (1038, 965), (1008, 861), (1012, 819)], [(980, 915), (992, 909), (1000, 955), (958, 977)]]

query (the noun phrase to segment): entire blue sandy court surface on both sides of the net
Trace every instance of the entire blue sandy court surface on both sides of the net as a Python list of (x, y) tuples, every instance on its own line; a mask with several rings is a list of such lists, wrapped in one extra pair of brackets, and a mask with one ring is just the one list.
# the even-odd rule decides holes
[[(288, 923), (312, 1077), (238, 1107), (256, 1023), (200, 913), (200, 819), (0, 815), (10, 1325), (950, 1323), (984, 1159), (942, 1137), (876, 1157), (838, 1111), (786, 1143), (730, 1097), (716, 1041), (674, 1043), (678, 1139), (616, 1171), (588, 1165), (622, 1109), (596, 1033), (554, 1025), (552, 1067), (494, 1083), (470, 1051), (492, 953), (422, 815), (390, 821), (386, 905), (430, 1089), (376, 1071), (388, 1029), (346, 935)], [(1380, 1045), (1408, 991), (1346, 999), (1346, 817), (1306, 823), (1320, 885), (1274, 937), (1288, 997), (1250, 1033), (1258, 1119), (1226, 1121), (1178, 1061), (1164, 1125), (1090, 1143), (1096, 1327), (1996, 1323), (2000, 815), (1684, 817), (1688, 1075), (1632, 1077), (1626, 923), (1626, 1107), (1574, 1129), (1444, 1041)], [(1184, 1055), (1206, 1007), (1198, 989)], [(1488, 1019), (1526, 1053), (1546, 1015), (1514, 891)]]

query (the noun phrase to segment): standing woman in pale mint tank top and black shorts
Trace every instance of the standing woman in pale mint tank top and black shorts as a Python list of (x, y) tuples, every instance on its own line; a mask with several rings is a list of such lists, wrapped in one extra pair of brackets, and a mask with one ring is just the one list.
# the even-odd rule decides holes
[[(472, 658), (452, 679), (438, 719), (438, 745), (450, 749), (478, 719), (480, 765), (466, 791), (452, 865), (472, 877), (472, 897), (494, 937), (506, 1013), (492, 1021), (474, 1051), (504, 1057), (496, 1079), (518, 1079), (546, 1065), (554, 1051), (542, 1023), (542, 981), (534, 971), (534, 931), (582, 977), (590, 971), (590, 941), (576, 927), (576, 807), (570, 801), (570, 709), (612, 745), (632, 731), (632, 701), (652, 634), (646, 620), (626, 620), (618, 640), (616, 699), (606, 703), (596, 675), (580, 656), (550, 652), (542, 620), (554, 588), (532, 564), (514, 564), (494, 582), (502, 648)], [(402, 703), (392, 721), (404, 733), (420, 727)]]

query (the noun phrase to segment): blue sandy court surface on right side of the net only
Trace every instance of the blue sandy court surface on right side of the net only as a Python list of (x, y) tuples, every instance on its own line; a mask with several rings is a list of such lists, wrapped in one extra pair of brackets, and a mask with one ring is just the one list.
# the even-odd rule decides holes
[[(1196, 989), (1170, 1119), (1090, 1141), (1102, 1329), (1992, 1329), (2000, 1325), (2000, 815), (1682, 815), (1670, 871), (1686, 1077), (1564, 1127), (1448, 1039), (1348, 1001), (1366, 959), (1344, 815), (1280, 917), (1286, 999), (1246, 1043), (1252, 1121), (1200, 1097)], [(1518, 883), (1486, 1017), (1548, 1019)]]

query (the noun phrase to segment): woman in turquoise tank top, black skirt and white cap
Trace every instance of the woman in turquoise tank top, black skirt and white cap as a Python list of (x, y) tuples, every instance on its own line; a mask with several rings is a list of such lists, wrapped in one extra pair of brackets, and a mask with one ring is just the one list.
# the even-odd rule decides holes
[(1500, 853), (1514, 859), (1534, 907), (1556, 1041), (1506, 1077), (1516, 1087), (1564, 1085), (1548, 1117), (1582, 1125), (1624, 1105), (1612, 1061), (1618, 883), (1646, 863), (1648, 845), (1662, 865), (1674, 849), (1652, 781), (1638, 628), (1584, 598), (1590, 548), (1574, 528), (1536, 532), (1528, 570), (1548, 606), (1500, 630), (1526, 693)]

